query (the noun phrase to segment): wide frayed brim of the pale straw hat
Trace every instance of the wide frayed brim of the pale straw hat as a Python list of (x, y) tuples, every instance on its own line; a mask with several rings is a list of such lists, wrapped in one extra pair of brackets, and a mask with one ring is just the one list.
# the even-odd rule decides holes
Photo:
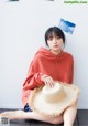
[(75, 85), (62, 83), (65, 90), (66, 96), (63, 101), (56, 103), (47, 103), (43, 99), (42, 88), (43, 86), (35, 88), (31, 93), (29, 101), (31, 108), (43, 115), (57, 116), (64, 112), (68, 106), (75, 104), (79, 96), (79, 88)]

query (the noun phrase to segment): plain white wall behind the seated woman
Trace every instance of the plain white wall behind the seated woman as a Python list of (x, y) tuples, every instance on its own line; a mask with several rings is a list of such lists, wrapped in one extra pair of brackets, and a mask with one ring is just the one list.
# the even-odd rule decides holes
[(47, 28), (59, 19), (76, 23), (74, 34), (66, 34), (65, 50), (75, 59), (74, 83), (81, 90), (79, 108), (88, 108), (88, 8), (65, 4), (63, 0), (20, 0), (0, 2), (0, 107), (21, 108), (21, 90), (29, 64), (36, 50), (45, 45)]

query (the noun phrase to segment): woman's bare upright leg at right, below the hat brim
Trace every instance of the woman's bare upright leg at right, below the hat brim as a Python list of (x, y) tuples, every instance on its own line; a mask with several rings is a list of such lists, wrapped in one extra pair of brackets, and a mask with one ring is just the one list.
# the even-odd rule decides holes
[(69, 106), (64, 112), (64, 126), (73, 126), (77, 113), (77, 104)]

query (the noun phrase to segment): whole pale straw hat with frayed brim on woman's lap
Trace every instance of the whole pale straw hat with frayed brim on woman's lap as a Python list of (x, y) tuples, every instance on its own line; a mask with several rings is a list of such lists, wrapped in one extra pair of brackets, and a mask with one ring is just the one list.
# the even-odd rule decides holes
[(43, 85), (31, 93), (29, 104), (43, 115), (57, 116), (78, 99), (79, 88), (75, 85), (55, 82), (54, 87)]

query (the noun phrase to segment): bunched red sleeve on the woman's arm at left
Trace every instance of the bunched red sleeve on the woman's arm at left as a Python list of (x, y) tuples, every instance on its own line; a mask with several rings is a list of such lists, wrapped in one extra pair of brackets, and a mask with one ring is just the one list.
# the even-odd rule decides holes
[(23, 84), (23, 90), (33, 90), (37, 86), (41, 86), (43, 84), (43, 77), (47, 76), (44, 73), (41, 73), (38, 69), (38, 63), (37, 60), (32, 61), (29, 72), (28, 72), (28, 77)]

